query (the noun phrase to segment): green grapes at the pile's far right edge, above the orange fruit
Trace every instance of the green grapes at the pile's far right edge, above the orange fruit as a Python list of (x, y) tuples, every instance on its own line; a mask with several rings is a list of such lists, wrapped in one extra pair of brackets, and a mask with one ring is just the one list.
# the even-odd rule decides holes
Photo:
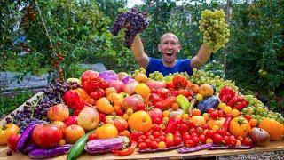
[(284, 117), (281, 116), (280, 113), (273, 112), (264, 106), (264, 103), (258, 100), (253, 95), (244, 95), (244, 98), (248, 100), (248, 108), (243, 108), (241, 110), (242, 114), (248, 114), (252, 118), (255, 118), (260, 122), (265, 117), (269, 117), (275, 119), (280, 122), (280, 124), (284, 124)]

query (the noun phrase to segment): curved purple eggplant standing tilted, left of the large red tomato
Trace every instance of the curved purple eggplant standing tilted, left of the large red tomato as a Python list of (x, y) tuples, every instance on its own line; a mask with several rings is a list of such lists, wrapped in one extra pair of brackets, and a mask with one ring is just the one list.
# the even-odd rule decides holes
[(36, 125), (42, 124), (42, 122), (37, 122), (36, 124), (29, 124), (28, 127), (21, 133), (19, 142), (17, 144), (17, 151), (20, 152), (28, 145), (29, 140), (32, 137), (32, 133)]

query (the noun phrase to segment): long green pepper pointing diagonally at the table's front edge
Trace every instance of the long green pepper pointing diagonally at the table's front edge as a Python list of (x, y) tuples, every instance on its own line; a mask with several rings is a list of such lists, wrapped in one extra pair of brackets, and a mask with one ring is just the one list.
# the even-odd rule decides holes
[(79, 156), (83, 154), (83, 148), (85, 147), (89, 134), (93, 133), (93, 131), (85, 134), (83, 137), (81, 137), (79, 140), (75, 142), (75, 144), (70, 149), (67, 160), (77, 159)]

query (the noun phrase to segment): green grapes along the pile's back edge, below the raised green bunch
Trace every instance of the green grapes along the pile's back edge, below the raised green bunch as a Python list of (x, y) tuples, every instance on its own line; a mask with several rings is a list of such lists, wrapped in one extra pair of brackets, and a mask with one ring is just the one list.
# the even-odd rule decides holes
[(219, 91), (223, 86), (229, 86), (234, 91), (238, 91), (238, 87), (232, 80), (225, 80), (221, 76), (215, 76), (212, 72), (205, 72), (193, 68), (193, 75), (190, 76), (189, 80), (194, 84), (212, 84), (216, 86)]

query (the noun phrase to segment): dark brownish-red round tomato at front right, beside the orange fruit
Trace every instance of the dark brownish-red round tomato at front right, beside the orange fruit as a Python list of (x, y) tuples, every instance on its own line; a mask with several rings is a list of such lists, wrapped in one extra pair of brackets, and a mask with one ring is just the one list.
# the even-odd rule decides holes
[(253, 128), (250, 134), (251, 140), (253, 140), (257, 146), (265, 146), (269, 143), (270, 135), (264, 129)]

